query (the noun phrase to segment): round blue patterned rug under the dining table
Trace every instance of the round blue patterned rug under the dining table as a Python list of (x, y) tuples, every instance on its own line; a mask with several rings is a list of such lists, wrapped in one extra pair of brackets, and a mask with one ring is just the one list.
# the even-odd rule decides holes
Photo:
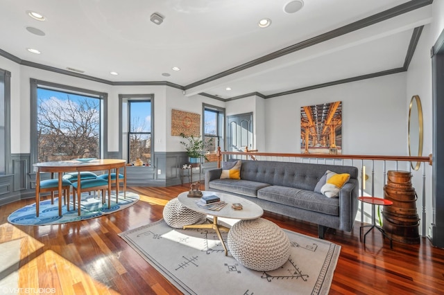
[(77, 207), (76, 210), (73, 210), (72, 202), (69, 205), (69, 209), (71, 210), (67, 211), (67, 206), (63, 205), (62, 216), (59, 216), (58, 198), (56, 197), (54, 198), (54, 204), (51, 204), (51, 199), (40, 202), (39, 217), (35, 216), (34, 203), (19, 208), (19, 210), (11, 213), (11, 215), (8, 216), (8, 222), (21, 225), (48, 225), (76, 222), (121, 211), (129, 206), (133, 206), (138, 200), (139, 195), (126, 192), (126, 198), (123, 197), (123, 193), (119, 193), (119, 202), (116, 203), (116, 194), (115, 192), (112, 192), (111, 207), (108, 209), (108, 198), (106, 199), (106, 203), (102, 204), (101, 197), (99, 198), (97, 195), (89, 195), (89, 193), (82, 193), (80, 216), (78, 216)]

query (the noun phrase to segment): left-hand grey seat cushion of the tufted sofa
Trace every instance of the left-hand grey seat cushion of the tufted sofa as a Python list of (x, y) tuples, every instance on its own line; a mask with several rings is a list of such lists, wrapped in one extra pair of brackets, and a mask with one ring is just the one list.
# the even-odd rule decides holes
[(228, 193), (237, 193), (239, 195), (247, 195), (250, 197), (256, 197), (257, 190), (270, 186), (269, 184), (264, 184), (262, 182), (244, 179), (214, 179), (210, 181), (209, 185), (210, 188), (216, 190), (225, 190)]

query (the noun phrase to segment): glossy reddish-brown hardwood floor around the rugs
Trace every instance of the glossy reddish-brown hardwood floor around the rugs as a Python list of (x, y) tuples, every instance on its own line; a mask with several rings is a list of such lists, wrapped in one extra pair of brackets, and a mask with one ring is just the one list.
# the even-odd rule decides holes
[[(34, 199), (0, 206), (0, 243), (21, 240), (19, 287), (53, 288), (52, 294), (181, 294), (118, 235), (162, 218), (164, 204), (187, 186), (131, 187), (140, 201), (104, 217), (53, 226), (15, 226), (13, 211)], [(316, 224), (266, 213), (284, 229), (317, 236)], [(351, 233), (329, 229), (325, 239), (340, 244), (330, 294), (443, 294), (444, 249), (421, 238), (416, 245), (393, 242), (377, 231), (366, 247), (360, 222)], [(25, 291), (22, 290), (24, 293)]]

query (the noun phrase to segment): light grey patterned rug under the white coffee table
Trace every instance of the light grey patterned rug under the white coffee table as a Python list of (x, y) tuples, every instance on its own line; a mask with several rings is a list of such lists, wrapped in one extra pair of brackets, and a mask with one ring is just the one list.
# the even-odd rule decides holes
[(284, 232), (291, 255), (274, 271), (253, 271), (225, 256), (208, 229), (172, 229), (160, 220), (119, 235), (184, 294), (328, 294), (341, 246)]

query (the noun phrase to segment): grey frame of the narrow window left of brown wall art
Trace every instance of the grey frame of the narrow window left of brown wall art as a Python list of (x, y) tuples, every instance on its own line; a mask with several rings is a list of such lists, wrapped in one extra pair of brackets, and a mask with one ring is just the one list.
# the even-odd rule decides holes
[[(151, 166), (154, 165), (154, 94), (119, 94), (119, 157), (126, 159), (127, 163), (130, 161), (130, 147), (129, 147), (129, 127), (130, 127), (130, 108), (129, 102), (151, 102)], [(124, 106), (126, 104), (126, 106)], [(126, 121), (125, 123), (123, 121)], [(126, 128), (123, 128), (123, 127)], [(139, 132), (137, 132), (139, 133)], [(144, 133), (144, 132), (142, 132)], [(125, 137), (125, 138), (124, 138)], [(123, 147), (123, 142), (126, 147)], [(123, 157), (123, 154), (125, 156)]]

